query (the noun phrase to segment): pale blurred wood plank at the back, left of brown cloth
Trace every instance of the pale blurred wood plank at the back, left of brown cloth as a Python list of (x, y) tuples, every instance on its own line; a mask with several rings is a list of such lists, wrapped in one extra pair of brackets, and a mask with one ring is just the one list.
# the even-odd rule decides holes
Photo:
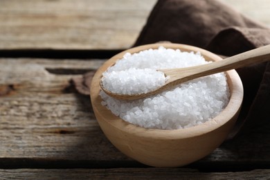
[(0, 2), (0, 49), (131, 46), (156, 0)]

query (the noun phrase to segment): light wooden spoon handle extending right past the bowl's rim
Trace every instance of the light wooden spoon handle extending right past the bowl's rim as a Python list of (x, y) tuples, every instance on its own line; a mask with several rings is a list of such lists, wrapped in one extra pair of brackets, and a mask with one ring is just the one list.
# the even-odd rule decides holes
[[(258, 62), (266, 62), (270, 60), (270, 45), (255, 48), (251, 51), (246, 51), (224, 60), (202, 64), (199, 66), (191, 66), (179, 69), (162, 69), (165, 75), (169, 75), (170, 79), (166, 84), (179, 84), (195, 78), (200, 78), (206, 75), (220, 73), (231, 69), (237, 69), (243, 66), (249, 66)], [(172, 85), (171, 84), (171, 85)]]

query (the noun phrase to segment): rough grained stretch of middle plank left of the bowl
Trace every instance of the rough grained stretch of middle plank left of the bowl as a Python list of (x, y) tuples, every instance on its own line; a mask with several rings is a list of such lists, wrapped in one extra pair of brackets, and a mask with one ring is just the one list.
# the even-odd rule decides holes
[[(89, 97), (66, 89), (71, 75), (54, 75), (45, 69), (60, 65), (95, 69), (100, 61), (2, 59), (0, 64), (1, 158), (126, 159), (100, 131)], [(93, 150), (100, 145), (106, 147)]]

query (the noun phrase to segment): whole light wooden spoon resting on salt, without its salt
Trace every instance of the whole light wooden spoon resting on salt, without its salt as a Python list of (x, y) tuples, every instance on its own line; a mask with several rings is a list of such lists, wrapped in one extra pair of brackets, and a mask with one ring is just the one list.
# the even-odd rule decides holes
[(169, 76), (169, 79), (165, 82), (165, 84), (163, 84), (163, 86), (158, 87), (157, 89), (154, 89), (153, 91), (149, 91), (147, 93), (132, 94), (132, 95), (112, 93), (111, 91), (105, 89), (102, 86), (102, 79), (100, 80), (100, 87), (105, 93), (107, 93), (109, 96), (113, 98), (117, 98), (120, 100), (136, 100), (152, 96), (156, 93), (161, 93), (162, 91), (168, 89), (172, 89), (175, 85), (181, 84), (182, 82), (186, 82), (188, 80), (193, 80), (195, 78), (200, 78), (206, 75), (228, 71), (231, 69), (237, 69), (243, 66), (249, 66), (251, 64), (259, 62), (266, 62), (269, 60), (270, 60), (270, 45), (267, 45), (262, 46), (260, 48), (255, 48), (251, 51), (240, 53), (238, 55), (234, 55), (232, 57), (228, 57), (224, 60), (220, 60), (217, 62), (211, 62), (199, 66), (190, 66), (186, 68), (157, 70), (162, 71), (165, 74), (165, 76)]

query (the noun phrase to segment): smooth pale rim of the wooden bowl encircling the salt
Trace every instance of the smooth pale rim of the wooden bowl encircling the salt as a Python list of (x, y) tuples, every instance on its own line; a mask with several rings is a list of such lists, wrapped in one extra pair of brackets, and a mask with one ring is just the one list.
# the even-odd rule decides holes
[[(102, 73), (107, 70), (109, 66), (112, 66), (116, 60), (123, 58), (125, 53), (138, 53), (139, 51), (150, 49), (150, 48), (159, 48), (159, 46), (163, 46), (165, 48), (179, 48), (181, 51), (199, 51), (201, 55), (204, 56), (206, 60), (222, 60), (222, 57), (211, 53), (210, 51), (206, 51), (202, 48), (190, 46), (186, 44), (173, 44), (173, 43), (156, 43), (156, 44), (146, 44), (143, 46), (136, 46), (134, 48), (129, 48), (125, 51), (114, 55), (109, 60), (107, 60), (100, 68), (96, 71), (93, 76), (90, 88), (90, 96), (91, 103), (96, 114), (96, 117), (99, 116), (100, 119), (97, 118), (98, 123), (107, 123), (111, 127), (114, 127), (121, 132), (125, 132), (127, 134), (136, 134), (136, 136), (143, 136), (148, 138), (158, 138), (158, 139), (179, 139), (179, 138), (191, 138), (194, 136), (200, 136), (202, 134), (206, 134), (208, 132), (212, 132), (215, 129), (222, 127), (222, 125), (228, 123), (229, 120), (233, 119), (237, 112), (240, 110), (243, 99), (243, 86), (242, 81), (235, 70), (226, 71), (227, 82), (230, 84), (230, 93), (231, 97), (229, 99), (228, 105), (225, 109), (217, 115), (212, 120), (208, 120), (205, 123), (201, 123), (199, 125), (195, 125), (193, 127), (187, 127), (183, 129), (147, 129), (145, 127), (139, 127), (138, 125), (133, 125), (131, 123), (127, 123), (125, 120), (121, 119), (118, 116), (115, 116), (111, 113), (107, 107), (101, 105), (101, 97), (100, 93), (100, 78), (102, 77)], [(231, 108), (228, 108), (231, 107)]]

